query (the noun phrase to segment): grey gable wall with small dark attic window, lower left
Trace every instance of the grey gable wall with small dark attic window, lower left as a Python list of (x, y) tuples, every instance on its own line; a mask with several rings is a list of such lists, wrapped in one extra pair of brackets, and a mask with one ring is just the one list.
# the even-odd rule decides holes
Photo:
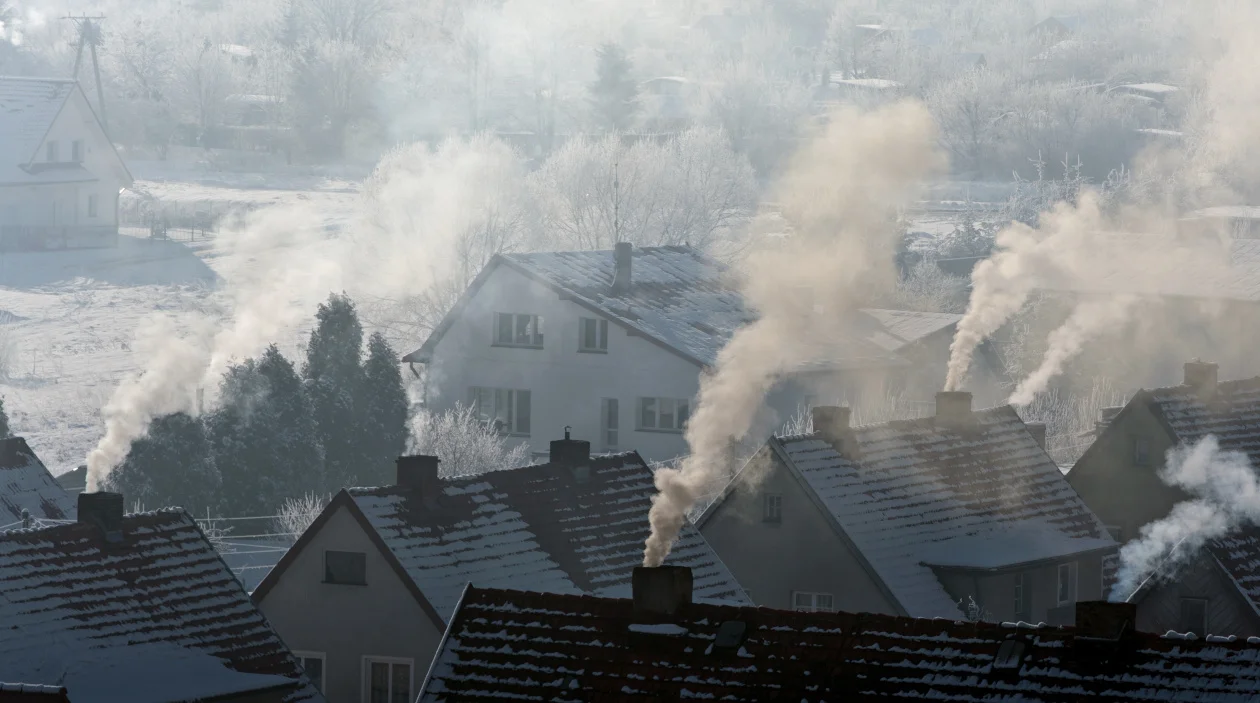
[[(365, 553), (368, 585), (324, 583), (325, 549)], [(360, 700), (365, 655), (411, 659), (415, 698), (442, 636), (346, 508), (296, 554), (258, 609), (289, 649), (324, 653), (329, 703)]]

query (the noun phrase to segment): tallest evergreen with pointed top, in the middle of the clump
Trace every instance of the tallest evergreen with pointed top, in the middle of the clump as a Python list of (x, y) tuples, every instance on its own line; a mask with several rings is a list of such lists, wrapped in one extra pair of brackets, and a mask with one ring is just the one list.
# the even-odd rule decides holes
[(335, 493), (358, 481), (364, 440), (359, 436), (359, 397), (363, 392), (363, 325), (348, 296), (331, 295), (315, 314), (316, 326), (306, 345), (302, 375), (324, 443), (325, 491)]

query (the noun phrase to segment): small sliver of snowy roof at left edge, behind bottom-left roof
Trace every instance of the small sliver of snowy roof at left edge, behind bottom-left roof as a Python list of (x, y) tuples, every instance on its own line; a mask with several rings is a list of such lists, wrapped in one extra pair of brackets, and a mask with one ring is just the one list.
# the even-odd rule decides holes
[(0, 440), (0, 532), (21, 525), (21, 512), (39, 520), (74, 519), (74, 498), (48, 472), (21, 437)]

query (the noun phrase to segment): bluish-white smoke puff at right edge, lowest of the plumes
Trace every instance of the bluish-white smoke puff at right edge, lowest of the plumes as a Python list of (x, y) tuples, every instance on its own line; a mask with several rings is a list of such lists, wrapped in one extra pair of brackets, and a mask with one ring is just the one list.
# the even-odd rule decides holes
[(1142, 528), (1142, 537), (1120, 549), (1120, 571), (1111, 600), (1126, 600), (1148, 577), (1169, 577), (1207, 542), (1260, 523), (1260, 479), (1247, 456), (1222, 451), (1213, 435), (1168, 450), (1159, 477), (1194, 496), (1163, 519)]

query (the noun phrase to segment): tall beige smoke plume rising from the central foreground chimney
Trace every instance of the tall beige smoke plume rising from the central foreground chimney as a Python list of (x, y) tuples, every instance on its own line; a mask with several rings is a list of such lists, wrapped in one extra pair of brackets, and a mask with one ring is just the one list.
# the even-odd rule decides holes
[(793, 234), (745, 262), (743, 295), (757, 319), (741, 328), (701, 379), (687, 426), (690, 455), (656, 471), (644, 564), (659, 566), (687, 510), (727, 476), (731, 446), (751, 430), (766, 393), (843, 334), (859, 291), (895, 276), (896, 208), (944, 166), (920, 103), (840, 110), (793, 160), (777, 202)]

